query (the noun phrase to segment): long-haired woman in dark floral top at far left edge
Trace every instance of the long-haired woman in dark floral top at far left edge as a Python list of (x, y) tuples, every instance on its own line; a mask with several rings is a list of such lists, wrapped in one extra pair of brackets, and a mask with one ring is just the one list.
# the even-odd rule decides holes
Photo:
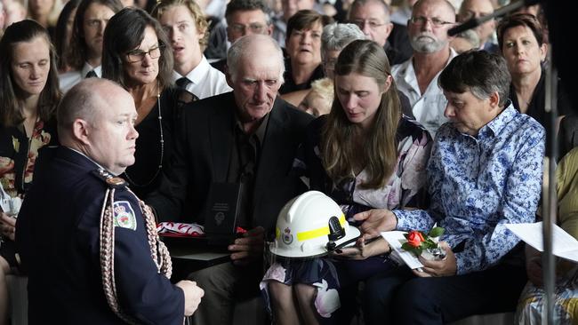
[(6, 319), (4, 275), (19, 265), (16, 215), (32, 182), (38, 150), (57, 143), (54, 111), (60, 101), (56, 59), (48, 31), (34, 20), (6, 28), (0, 40), (0, 324)]

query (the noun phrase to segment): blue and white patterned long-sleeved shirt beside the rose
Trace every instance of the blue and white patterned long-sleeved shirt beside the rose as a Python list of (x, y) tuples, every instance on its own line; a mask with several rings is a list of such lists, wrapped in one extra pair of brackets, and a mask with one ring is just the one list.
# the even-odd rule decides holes
[(397, 229), (446, 228), (441, 240), (465, 244), (455, 254), (458, 274), (496, 265), (519, 242), (504, 225), (534, 222), (544, 141), (540, 123), (511, 105), (477, 138), (444, 124), (429, 158), (429, 210), (394, 210)]

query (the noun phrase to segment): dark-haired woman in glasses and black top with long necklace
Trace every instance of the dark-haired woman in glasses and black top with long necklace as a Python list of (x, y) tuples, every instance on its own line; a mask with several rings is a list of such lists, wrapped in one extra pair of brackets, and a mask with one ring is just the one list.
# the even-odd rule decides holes
[(173, 52), (163, 28), (149, 13), (124, 8), (104, 31), (102, 77), (130, 92), (139, 117), (135, 163), (122, 177), (143, 198), (159, 183), (162, 170), (170, 168), (173, 130), (181, 107), (181, 91), (172, 87)]

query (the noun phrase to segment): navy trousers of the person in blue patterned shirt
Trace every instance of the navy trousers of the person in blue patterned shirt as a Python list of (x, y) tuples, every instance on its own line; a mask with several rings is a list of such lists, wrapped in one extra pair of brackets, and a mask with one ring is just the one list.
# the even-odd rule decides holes
[(365, 323), (432, 325), (474, 314), (513, 312), (526, 280), (524, 266), (499, 265), (436, 278), (419, 278), (399, 266), (365, 282)]

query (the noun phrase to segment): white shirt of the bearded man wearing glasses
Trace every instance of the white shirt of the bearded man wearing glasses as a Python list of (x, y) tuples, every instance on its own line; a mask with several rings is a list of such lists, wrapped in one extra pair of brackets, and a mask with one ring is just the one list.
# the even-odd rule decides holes
[[(450, 59), (447, 60), (446, 66), (457, 55), (453, 49), (450, 51)], [(441, 71), (431, 80), (426, 91), (421, 94), (420, 85), (417, 83), (417, 76), (413, 69), (413, 57), (391, 68), (391, 75), (396, 81), (397, 89), (407, 96), (412, 105), (415, 119), (429, 131), (432, 138), (435, 138), (439, 127), (448, 121), (444, 116), (447, 99), (438, 86), (440, 74)]]

